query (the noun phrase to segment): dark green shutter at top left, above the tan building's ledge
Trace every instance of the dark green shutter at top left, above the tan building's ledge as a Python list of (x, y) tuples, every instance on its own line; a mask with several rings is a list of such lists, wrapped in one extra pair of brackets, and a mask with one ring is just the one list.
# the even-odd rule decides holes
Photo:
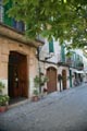
[(11, 2), (11, 0), (10, 0), (9, 3), (7, 3), (7, 4), (4, 5), (4, 16), (3, 16), (3, 23), (4, 23), (5, 25), (9, 25), (9, 26), (12, 26), (12, 19), (8, 16), (7, 11), (8, 11), (11, 7), (12, 7), (12, 2)]

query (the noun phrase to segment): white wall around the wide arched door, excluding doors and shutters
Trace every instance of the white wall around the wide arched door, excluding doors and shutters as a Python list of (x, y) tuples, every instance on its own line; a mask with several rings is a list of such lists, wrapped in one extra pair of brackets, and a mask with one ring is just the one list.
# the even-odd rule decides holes
[[(53, 40), (53, 48), (54, 48), (54, 53), (52, 55), (52, 57), (50, 59), (48, 59), (47, 61), (53, 62), (53, 63), (58, 63), (59, 61), (61, 61), (61, 46), (59, 45), (59, 40), (55, 41)], [(45, 60), (46, 57), (49, 57), (49, 41), (47, 39), (45, 39), (45, 45), (41, 47), (40, 49), (40, 59)], [(66, 67), (58, 67), (52, 64), (52, 63), (41, 63), (41, 71), (45, 72), (46, 69), (48, 67), (54, 67), (57, 69), (58, 74), (62, 74), (62, 70), (65, 69), (66, 70), (66, 75), (69, 76), (69, 68)], [(45, 71), (44, 71), (45, 70)], [(58, 76), (57, 76), (58, 79)], [(70, 81), (67, 80), (67, 88), (70, 87)], [(57, 87), (58, 91), (60, 91), (60, 83), (58, 81), (57, 83)]]

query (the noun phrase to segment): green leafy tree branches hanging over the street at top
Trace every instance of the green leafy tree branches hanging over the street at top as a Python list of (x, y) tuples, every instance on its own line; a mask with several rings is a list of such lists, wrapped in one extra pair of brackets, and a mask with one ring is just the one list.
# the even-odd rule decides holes
[(70, 48), (87, 45), (86, 0), (14, 0), (8, 13), (26, 24), (25, 33), (32, 38), (40, 34), (61, 44), (71, 41)]

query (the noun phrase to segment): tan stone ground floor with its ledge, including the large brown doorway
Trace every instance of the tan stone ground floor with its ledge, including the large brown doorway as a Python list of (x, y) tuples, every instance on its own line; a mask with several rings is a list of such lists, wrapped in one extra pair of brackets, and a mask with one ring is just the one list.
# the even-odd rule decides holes
[(29, 98), (34, 78), (38, 73), (37, 47), (39, 40), (26, 39), (23, 34), (0, 23), (0, 81), (10, 99)]

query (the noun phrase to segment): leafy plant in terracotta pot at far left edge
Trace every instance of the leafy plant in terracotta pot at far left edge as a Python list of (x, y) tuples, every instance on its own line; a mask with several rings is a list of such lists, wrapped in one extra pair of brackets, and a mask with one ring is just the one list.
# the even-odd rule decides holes
[(4, 84), (0, 82), (0, 112), (3, 112), (8, 109), (9, 96), (2, 94), (2, 90), (4, 88)]

